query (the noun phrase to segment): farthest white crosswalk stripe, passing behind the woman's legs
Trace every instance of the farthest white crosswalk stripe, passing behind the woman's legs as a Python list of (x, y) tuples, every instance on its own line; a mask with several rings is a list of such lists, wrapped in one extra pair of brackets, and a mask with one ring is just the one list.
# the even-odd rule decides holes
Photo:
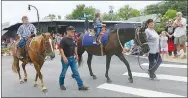
[[(149, 63), (143, 63), (142, 66), (149, 66)], [(187, 65), (180, 64), (161, 64), (159, 67), (187, 68)]]

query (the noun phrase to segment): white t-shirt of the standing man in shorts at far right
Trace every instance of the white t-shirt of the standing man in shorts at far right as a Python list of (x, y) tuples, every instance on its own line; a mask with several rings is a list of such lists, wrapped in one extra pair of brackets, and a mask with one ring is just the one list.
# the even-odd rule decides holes
[(181, 18), (180, 20), (181, 24), (183, 24), (183, 27), (177, 27), (174, 31), (174, 37), (181, 37), (183, 35), (186, 35), (186, 25), (187, 21), (185, 18)]

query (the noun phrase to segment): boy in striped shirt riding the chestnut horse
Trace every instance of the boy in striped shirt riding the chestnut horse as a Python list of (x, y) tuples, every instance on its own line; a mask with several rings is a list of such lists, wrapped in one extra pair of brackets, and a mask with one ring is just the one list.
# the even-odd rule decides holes
[(33, 24), (28, 22), (27, 16), (22, 17), (22, 22), (23, 24), (18, 28), (18, 31), (17, 31), (18, 37), (21, 39), (17, 47), (17, 56), (20, 59), (26, 56), (24, 55), (26, 53), (24, 53), (24, 48), (23, 48), (26, 43), (26, 40), (29, 37), (35, 36), (36, 34), (36, 28)]

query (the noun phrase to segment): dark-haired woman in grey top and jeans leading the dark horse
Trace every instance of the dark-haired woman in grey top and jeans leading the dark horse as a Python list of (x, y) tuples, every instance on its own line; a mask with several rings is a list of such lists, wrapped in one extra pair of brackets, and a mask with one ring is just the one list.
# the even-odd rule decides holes
[(147, 29), (145, 30), (145, 33), (147, 35), (148, 39), (148, 45), (150, 48), (149, 51), (149, 77), (150, 79), (156, 79), (155, 71), (158, 69), (159, 65), (162, 63), (162, 59), (159, 53), (159, 35), (154, 30), (154, 24), (153, 19), (148, 19), (146, 21)]

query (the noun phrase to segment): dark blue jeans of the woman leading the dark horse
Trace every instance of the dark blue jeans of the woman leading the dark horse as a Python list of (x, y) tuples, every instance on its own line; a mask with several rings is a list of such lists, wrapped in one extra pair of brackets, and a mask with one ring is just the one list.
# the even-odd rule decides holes
[(154, 73), (158, 69), (159, 65), (162, 63), (161, 55), (159, 53), (149, 53), (148, 59), (149, 69), (151, 69), (154, 66), (151, 70), (149, 70), (149, 72)]

